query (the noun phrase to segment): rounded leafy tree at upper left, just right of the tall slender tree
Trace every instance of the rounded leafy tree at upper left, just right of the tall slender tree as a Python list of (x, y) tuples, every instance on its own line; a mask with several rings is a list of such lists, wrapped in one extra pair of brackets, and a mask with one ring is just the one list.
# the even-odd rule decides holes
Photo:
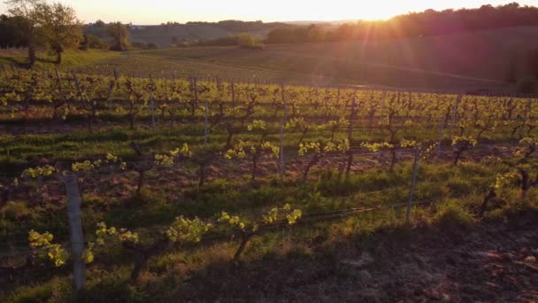
[(64, 4), (42, 5), (39, 19), (50, 49), (56, 52), (56, 63), (62, 63), (66, 48), (77, 47), (82, 40), (82, 24), (73, 7)]

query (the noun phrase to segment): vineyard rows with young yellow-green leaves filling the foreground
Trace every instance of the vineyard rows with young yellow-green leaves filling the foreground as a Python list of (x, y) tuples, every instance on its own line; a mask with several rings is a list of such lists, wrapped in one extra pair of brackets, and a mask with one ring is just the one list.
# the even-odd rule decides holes
[(6, 301), (300, 300), (268, 268), (536, 213), (536, 96), (104, 74), (0, 69)]

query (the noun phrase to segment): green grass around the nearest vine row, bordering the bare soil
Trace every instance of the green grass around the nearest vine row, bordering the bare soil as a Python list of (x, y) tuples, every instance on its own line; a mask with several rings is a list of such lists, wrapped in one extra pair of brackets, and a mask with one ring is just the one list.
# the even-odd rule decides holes
[[(494, 182), (496, 174), (507, 169), (510, 168), (503, 163), (464, 162), (459, 167), (453, 167), (450, 163), (422, 163), (416, 200), (430, 200), (433, 203), (415, 207), (411, 225), (434, 224), (447, 233), (460, 233), (473, 228), (477, 222), (473, 214), (477, 214), (488, 184)], [(305, 214), (360, 206), (390, 206), (406, 201), (410, 174), (411, 163), (405, 162), (392, 175), (373, 168), (344, 180), (333, 170), (324, 169), (317, 181), (287, 183), (279, 187), (273, 186), (269, 177), (250, 185), (240, 180), (219, 179), (208, 183), (197, 194), (189, 193), (187, 187), (177, 188), (178, 192), (185, 193), (181, 195), (182, 198), (171, 198), (171, 194), (175, 196), (175, 193), (165, 190), (170, 181), (158, 175), (155, 176), (158, 180), (151, 183), (151, 187), (131, 198), (107, 196), (109, 193), (96, 192), (84, 181), (81, 183), (85, 190), (82, 221), (86, 239), (92, 241), (95, 236), (91, 230), (99, 221), (133, 229), (142, 237), (149, 237), (180, 214), (211, 218), (226, 210), (254, 219), (268, 207), (282, 203), (291, 203), (303, 209)], [(105, 176), (97, 177), (102, 178)], [(88, 181), (92, 183), (91, 180), (90, 176)], [(389, 190), (396, 188), (402, 189)], [(350, 197), (342, 198), (344, 195)], [(526, 203), (520, 203), (517, 190), (504, 192), (496, 202), (502, 202), (502, 207), (489, 209), (488, 220), (494, 220), (494, 217), (499, 220), (517, 212), (535, 212), (538, 190), (529, 191), (528, 197)], [(30, 205), (32, 212), (28, 214)], [(60, 243), (67, 241), (65, 206), (18, 202), (3, 208), (1, 214), (3, 242), (23, 242), (28, 229), (50, 230)], [(138, 283), (130, 281), (128, 277), (133, 254), (120, 246), (97, 248), (97, 262), (88, 268), (87, 294), (82, 301), (100, 301), (104, 298), (133, 302), (148, 299), (217, 299), (214, 296), (218, 296), (219, 291), (211, 291), (211, 287), (225, 280), (227, 298), (249, 298), (244, 292), (237, 292), (239, 285), (244, 283), (243, 279), (248, 280), (252, 275), (262, 280), (270, 275), (274, 279), (274, 275), (284, 275), (288, 270), (286, 268), (297, 267), (311, 274), (315, 273), (315, 268), (326, 268), (326, 274), (328, 268), (333, 268), (330, 275), (340, 276), (345, 281), (351, 277), (339, 272), (341, 267), (336, 264), (345, 257), (346, 252), (352, 250), (350, 243), (363, 247), (376, 246), (375, 243), (382, 236), (376, 236), (375, 243), (372, 243), (373, 235), (382, 235), (387, 230), (399, 235), (397, 237), (401, 241), (405, 237), (411, 238), (406, 234), (408, 228), (405, 227), (404, 215), (404, 207), (388, 208), (333, 221), (298, 225), (288, 231), (264, 233), (252, 239), (242, 258), (241, 269), (234, 274), (230, 273), (232, 269), (228, 264), (238, 245), (235, 240), (222, 239), (185, 246), (151, 258)], [(312, 246), (312, 243), (323, 245)], [(275, 274), (271, 268), (279, 268), (279, 273)], [(250, 274), (244, 276), (243, 273)], [(0, 298), (4, 296), (3, 300), (8, 302), (72, 299), (71, 278), (68, 275), (68, 270), (60, 268), (49, 270), (46, 274), (35, 272), (25, 278), (20, 277), (5, 285), (7, 288), (0, 288)], [(268, 283), (271, 279), (264, 281)], [(261, 284), (251, 286), (255, 289), (262, 287)]]

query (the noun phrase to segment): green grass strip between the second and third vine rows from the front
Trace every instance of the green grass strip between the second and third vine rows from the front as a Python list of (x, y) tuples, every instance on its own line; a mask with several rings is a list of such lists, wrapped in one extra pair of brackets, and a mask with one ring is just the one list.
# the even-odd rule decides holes
[[(47, 105), (36, 105), (36, 112), (48, 109)], [(323, 117), (319, 113), (302, 112), (306, 119), (318, 118), (321, 120), (337, 119), (337, 117)], [(247, 123), (251, 120), (274, 120), (273, 113), (257, 111), (252, 115)], [(115, 113), (113, 108), (109, 111), (102, 109), (99, 114), (99, 123), (94, 126), (93, 133), (89, 133), (86, 123), (87, 117), (81, 113), (73, 113), (67, 116), (61, 124), (51, 123), (48, 117), (35, 117), (28, 122), (31, 128), (30, 134), (11, 135), (20, 133), (23, 123), (19, 114), (11, 117), (10, 108), (5, 106), (0, 109), (0, 117), (8, 134), (0, 136), (0, 163), (4, 167), (22, 167), (31, 159), (50, 158), (50, 159), (85, 159), (103, 157), (105, 152), (113, 152), (121, 157), (133, 155), (129, 147), (131, 141), (141, 144), (142, 148), (150, 152), (170, 151), (177, 146), (188, 143), (193, 149), (199, 149), (204, 143), (204, 124), (202, 117), (191, 117), (188, 113), (181, 113), (176, 116), (173, 128), (170, 127), (168, 117), (161, 119), (157, 115), (157, 127), (150, 127), (150, 113), (147, 110), (137, 114), (135, 130), (127, 128), (127, 119), (125, 114)], [(269, 118), (271, 117), (271, 118)], [(276, 118), (280, 120), (280, 116)], [(403, 121), (397, 124), (397, 138), (420, 138), (422, 141), (436, 142), (439, 138), (439, 129), (437, 123), (420, 122), (413, 128), (406, 128)], [(49, 128), (50, 127), (50, 128)], [(363, 120), (355, 123), (353, 132), (354, 148), (363, 142), (382, 142), (388, 139), (388, 131), (380, 128), (368, 128), (368, 121)], [(45, 131), (45, 134), (31, 134), (35, 131)], [(340, 128), (335, 133), (335, 139), (347, 138), (347, 128)], [(510, 138), (510, 128), (499, 126), (493, 132), (486, 132), (480, 139), (480, 143), (488, 144), (513, 144)], [(469, 128), (466, 135), (475, 136), (477, 129)], [(227, 139), (227, 131), (221, 126), (216, 125), (209, 128), (209, 142), (220, 148), (224, 147)], [(329, 130), (311, 131), (304, 138), (304, 142), (327, 142), (331, 133)], [(445, 140), (442, 142), (445, 148), (448, 148), (450, 142), (447, 140), (448, 130), (445, 131)], [(287, 129), (284, 138), (285, 151), (292, 158), (296, 157), (296, 151), (300, 132), (297, 130)], [(248, 132), (246, 127), (234, 136), (234, 141), (258, 140), (257, 132)], [(267, 140), (273, 143), (280, 141), (278, 130), (274, 130)], [(465, 152), (467, 153), (467, 152)], [(470, 151), (473, 154), (473, 149)], [(368, 158), (368, 157), (366, 157)], [(361, 157), (357, 156), (357, 160)], [(9, 169), (6, 169), (9, 171)], [(457, 186), (457, 184), (455, 184)]]

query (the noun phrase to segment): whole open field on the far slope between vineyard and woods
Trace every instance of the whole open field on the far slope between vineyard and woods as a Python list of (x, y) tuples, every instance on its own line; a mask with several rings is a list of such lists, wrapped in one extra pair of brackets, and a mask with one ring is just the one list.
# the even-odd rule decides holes
[(265, 51), (235, 47), (165, 49), (126, 54), (81, 71), (109, 72), (115, 66), (137, 76), (170, 77), (179, 73), (320, 87), (513, 91), (514, 85), (505, 82), (511, 61), (515, 76), (524, 76), (525, 53), (538, 46), (534, 38), (537, 31), (535, 27), (518, 27), (387, 43), (268, 45)]

